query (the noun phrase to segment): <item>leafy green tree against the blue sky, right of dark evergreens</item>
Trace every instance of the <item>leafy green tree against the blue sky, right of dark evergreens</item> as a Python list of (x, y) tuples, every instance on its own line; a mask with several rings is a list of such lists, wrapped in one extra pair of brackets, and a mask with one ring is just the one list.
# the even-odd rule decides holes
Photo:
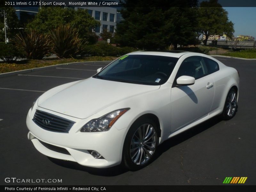
[(234, 24), (228, 20), (228, 12), (221, 7), (218, 0), (203, 1), (198, 9), (198, 31), (203, 31), (205, 45), (213, 35), (233, 36)]

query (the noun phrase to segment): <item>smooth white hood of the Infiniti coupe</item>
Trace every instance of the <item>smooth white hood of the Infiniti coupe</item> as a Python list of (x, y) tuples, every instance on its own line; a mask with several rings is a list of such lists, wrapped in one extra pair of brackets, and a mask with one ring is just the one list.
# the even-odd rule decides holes
[[(120, 100), (159, 88), (160, 85), (122, 83), (91, 77), (50, 94), (43, 101), (39, 100), (38, 106), (85, 119)], [(129, 103), (125, 107), (129, 107)]]

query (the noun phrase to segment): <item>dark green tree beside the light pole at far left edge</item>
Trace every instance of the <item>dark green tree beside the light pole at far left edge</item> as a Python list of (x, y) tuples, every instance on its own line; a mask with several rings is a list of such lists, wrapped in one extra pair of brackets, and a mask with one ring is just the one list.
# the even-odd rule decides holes
[(20, 23), (13, 7), (0, 7), (0, 41), (5, 41), (4, 34), (4, 11), (6, 17), (6, 36), (12, 38), (18, 32)]

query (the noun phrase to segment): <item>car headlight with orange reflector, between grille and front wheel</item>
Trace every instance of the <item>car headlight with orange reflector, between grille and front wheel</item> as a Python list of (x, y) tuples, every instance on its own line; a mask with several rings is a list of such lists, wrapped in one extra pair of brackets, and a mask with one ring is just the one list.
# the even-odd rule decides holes
[(81, 132), (100, 132), (100, 131), (108, 131), (112, 125), (116, 122), (116, 120), (124, 115), (126, 111), (130, 108), (118, 109), (116, 111), (112, 111), (100, 118), (92, 119), (87, 124), (85, 124), (81, 128)]

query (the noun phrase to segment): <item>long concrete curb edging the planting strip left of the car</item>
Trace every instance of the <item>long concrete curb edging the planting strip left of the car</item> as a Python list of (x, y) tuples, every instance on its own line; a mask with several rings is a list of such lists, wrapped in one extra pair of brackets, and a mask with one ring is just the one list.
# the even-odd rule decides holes
[(57, 64), (57, 65), (50, 65), (50, 66), (45, 66), (45, 67), (38, 67), (38, 68), (32, 68), (32, 69), (24, 69), (20, 71), (12, 71), (12, 72), (7, 72), (7, 73), (0, 73), (0, 77), (6, 77), (6, 76), (12, 76), (12, 75), (18, 75), (18, 74), (23, 74), (23, 73), (29, 73), (32, 71), (40, 71), (48, 68), (56, 68), (59, 66), (64, 66), (64, 65), (79, 65), (83, 63), (88, 63), (88, 64), (96, 64), (96, 63), (102, 63), (102, 64), (109, 64), (111, 61), (81, 61), (81, 62), (73, 62), (73, 63), (62, 63), (62, 64)]

